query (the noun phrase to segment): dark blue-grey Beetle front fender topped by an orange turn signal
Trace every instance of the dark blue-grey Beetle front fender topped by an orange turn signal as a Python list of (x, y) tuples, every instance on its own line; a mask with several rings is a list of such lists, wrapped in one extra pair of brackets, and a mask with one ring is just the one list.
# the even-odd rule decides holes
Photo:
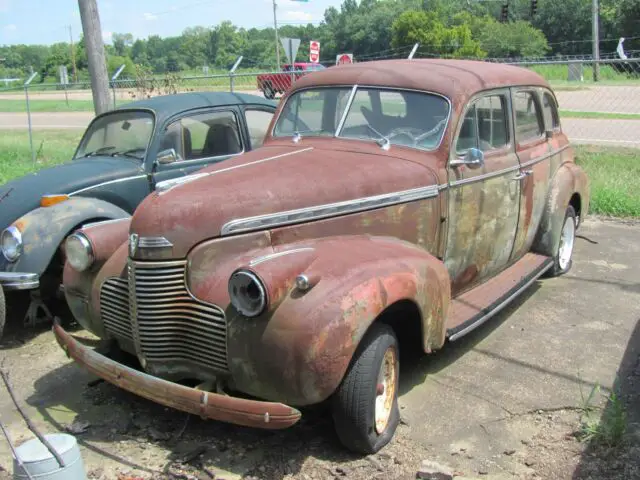
[(126, 218), (119, 207), (95, 198), (74, 197), (40, 207), (13, 222), (22, 233), (23, 253), (8, 271), (42, 275), (63, 240), (85, 222)]

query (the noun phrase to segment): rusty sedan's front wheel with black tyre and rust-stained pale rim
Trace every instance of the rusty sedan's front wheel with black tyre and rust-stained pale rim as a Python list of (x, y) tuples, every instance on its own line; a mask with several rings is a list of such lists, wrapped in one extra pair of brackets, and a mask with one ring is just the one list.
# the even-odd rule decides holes
[(357, 453), (375, 453), (393, 438), (398, 410), (398, 340), (393, 329), (374, 323), (332, 398), (335, 429)]

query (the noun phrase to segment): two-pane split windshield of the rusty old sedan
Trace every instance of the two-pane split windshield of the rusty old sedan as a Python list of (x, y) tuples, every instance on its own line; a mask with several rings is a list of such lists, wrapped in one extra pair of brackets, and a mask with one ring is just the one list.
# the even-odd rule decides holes
[[(434, 150), (449, 118), (449, 102), (439, 95), (381, 88), (303, 90), (287, 100), (275, 136), (334, 136)], [(340, 120), (349, 108), (338, 132)]]

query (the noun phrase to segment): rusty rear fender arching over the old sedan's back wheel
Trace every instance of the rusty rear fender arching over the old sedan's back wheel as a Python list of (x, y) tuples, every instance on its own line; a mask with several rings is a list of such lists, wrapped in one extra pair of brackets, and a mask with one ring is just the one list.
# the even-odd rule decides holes
[(533, 252), (556, 256), (565, 213), (574, 193), (580, 195), (580, 216), (584, 218), (589, 211), (588, 178), (578, 165), (566, 162), (560, 166), (549, 185), (544, 213), (532, 246)]

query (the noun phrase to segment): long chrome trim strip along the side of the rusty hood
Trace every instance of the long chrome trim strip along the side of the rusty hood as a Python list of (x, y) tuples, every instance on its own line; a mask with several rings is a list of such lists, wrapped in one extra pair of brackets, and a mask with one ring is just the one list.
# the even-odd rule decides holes
[(430, 185), (428, 187), (385, 193), (382, 195), (357, 198), (344, 202), (328, 203), (325, 205), (316, 205), (313, 207), (299, 208), (285, 212), (239, 218), (225, 223), (222, 226), (220, 234), (225, 236), (231, 235), (232, 233), (247, 232), (262, 228), (281, 227), (292, 223), (347, 215), (350, 213), (373, 210), (375, 208), (388, 207), (398, 203), (413, 202), (437, 196), (438, 185)]

